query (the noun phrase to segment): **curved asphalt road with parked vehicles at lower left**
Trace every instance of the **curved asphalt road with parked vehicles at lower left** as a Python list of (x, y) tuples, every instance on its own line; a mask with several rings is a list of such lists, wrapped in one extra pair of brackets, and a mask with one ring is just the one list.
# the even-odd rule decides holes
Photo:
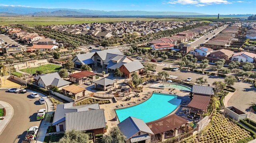
[(32, 98), (29, 93), (15, 94), (0, 90), (0, 100), (8, 102), (14, 108), (11, 121), (0, 135), (1, 143), (21, 143), (29, 127), (39, 127), (40, 121), (36, 120), (37, 111), (46, 106), (40, 105), (38, 99)]

